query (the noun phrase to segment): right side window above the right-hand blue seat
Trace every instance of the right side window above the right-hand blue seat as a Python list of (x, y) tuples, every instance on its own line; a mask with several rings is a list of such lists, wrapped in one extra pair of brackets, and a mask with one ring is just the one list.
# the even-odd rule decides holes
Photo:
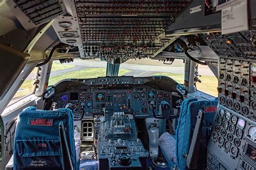
[(201, 77), (198, 77), (202, 82), (197, 82), (197, 90), (217, 97), (218, 79), (207, 65), (198, 65), (198, 72)]

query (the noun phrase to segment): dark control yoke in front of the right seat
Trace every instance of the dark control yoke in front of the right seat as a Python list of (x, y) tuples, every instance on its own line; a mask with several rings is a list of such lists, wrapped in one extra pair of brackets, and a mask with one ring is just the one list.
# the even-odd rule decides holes
[(156, 108), (154, 101), (150, 102), (150, 107), (151, 107), (152, 114), (153, 114), (154, 118), (174, 119), (174, 118), (179, 117), (179, 115), (174, 115), (174, 113), (171, 111), (171, 106), (167, 101), (161, 101), (161, 103), (159, 105), (159, 113), (158, 114), (156, 114), (156, 112), (154, 112), (154, 108)]

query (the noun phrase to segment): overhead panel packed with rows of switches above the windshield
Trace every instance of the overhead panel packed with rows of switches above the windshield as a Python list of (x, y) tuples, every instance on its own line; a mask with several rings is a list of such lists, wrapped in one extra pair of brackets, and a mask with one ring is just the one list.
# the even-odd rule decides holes
[(147, 58), (164, 42), (156, 41), (189, 0), (76, 1), (87, 58)]

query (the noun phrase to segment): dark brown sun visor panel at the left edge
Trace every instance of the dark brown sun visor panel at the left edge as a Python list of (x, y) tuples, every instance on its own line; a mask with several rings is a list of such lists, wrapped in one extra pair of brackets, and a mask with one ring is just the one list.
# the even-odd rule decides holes
[(0, 53), (0, 100), (2, 100), (11, 85), (22, 72), (30, 56), (27, 53), (17, 51), (1, 43)]

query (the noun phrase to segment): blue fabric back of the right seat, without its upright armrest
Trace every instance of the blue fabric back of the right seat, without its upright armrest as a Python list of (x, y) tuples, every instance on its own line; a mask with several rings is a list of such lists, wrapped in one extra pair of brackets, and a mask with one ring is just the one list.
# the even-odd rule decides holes
[[(200, 140), (199, 162), (203, 165), (206, 162), (207, 142), (210, 137), (210, 127), (213, 123), (214, 115), (217, 110), (218, 100), (200, 100), (188, 98), (181, 104), (180, 117), (176, 129), (176, 157), (179, 169), (186, 169), (186, 157), (190, 149), (193, 130), (197, 122), (199, 110), (205, 112), (204, 124)], [(200, 167), (198, 167), (200, 168)]]

